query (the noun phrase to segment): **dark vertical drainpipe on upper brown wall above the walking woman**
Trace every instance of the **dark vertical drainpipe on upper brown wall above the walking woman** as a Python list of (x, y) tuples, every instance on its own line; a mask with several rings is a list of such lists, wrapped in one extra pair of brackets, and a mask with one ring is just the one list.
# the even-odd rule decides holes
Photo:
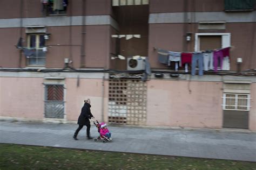
[(82, 1), (82, 45), (81, 45), (81, 54), (80, 54), (80, 67), (85, 67), (85, 35), (86, 35), (86, 30), (85, 30), (85, 18), (86, 18), (86, 0)]

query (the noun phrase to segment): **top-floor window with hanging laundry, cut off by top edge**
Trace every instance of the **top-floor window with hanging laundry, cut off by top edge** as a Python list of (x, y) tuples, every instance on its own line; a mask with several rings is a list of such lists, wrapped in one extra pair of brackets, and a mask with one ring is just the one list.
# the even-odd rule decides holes
[(42, 0), (44, 15), (66, 14), (68, 0)]

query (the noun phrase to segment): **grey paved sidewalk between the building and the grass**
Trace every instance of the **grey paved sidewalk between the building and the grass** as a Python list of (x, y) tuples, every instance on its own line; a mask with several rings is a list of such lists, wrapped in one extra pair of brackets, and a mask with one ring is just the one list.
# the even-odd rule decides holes
[[(0, 143), (82, 148), (183, 157), (256, 162), (256, 133), (227, 130), (172, 130), (109, 126), (113, 140), (95, 142), (85, 137), (86, 127), (72, 135), (76, 124), (0, 122)], [(93, 137), (97, 129), (91, 126)]]

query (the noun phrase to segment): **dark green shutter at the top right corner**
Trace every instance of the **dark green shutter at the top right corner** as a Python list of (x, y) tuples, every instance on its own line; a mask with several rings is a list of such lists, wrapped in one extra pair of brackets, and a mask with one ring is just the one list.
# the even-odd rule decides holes
[(255, 0), (225, 0), (225, 10), (253, 10)]

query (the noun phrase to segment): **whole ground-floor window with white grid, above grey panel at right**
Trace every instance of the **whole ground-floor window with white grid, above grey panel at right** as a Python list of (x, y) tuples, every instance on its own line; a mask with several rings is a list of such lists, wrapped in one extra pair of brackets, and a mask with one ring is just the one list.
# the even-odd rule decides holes
[(250, 111), (250, 95), (224, 93), (223, 110)]

